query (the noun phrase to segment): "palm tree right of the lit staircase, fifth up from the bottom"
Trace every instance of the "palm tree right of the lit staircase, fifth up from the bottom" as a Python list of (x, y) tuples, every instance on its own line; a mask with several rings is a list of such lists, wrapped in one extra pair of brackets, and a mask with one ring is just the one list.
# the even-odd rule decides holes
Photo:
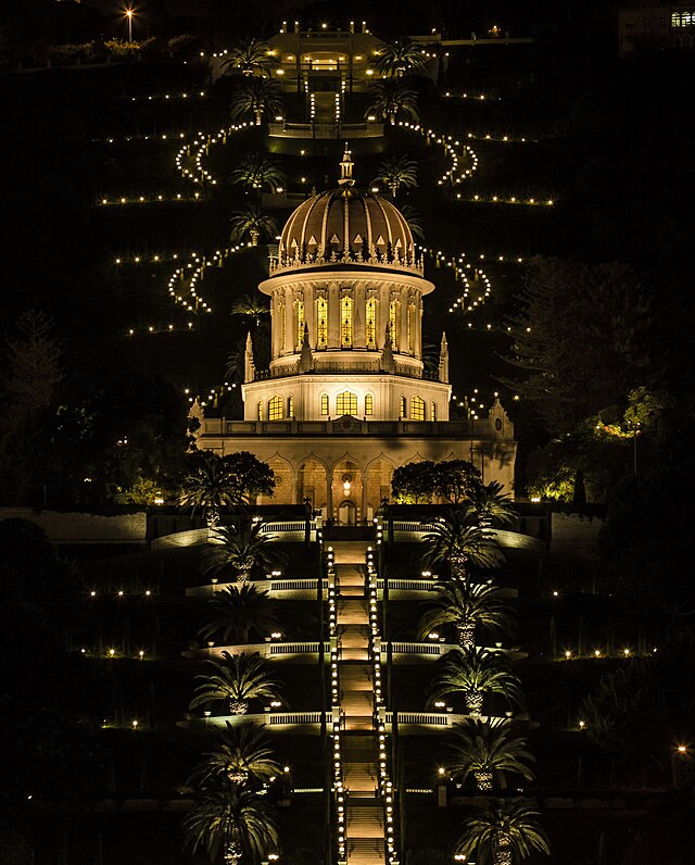
[(471, 567), (489, 571), (504, 562), (492, 532), (480, 528), (470, 510), (452, 507), (422, 537), (425, 548), (421, 562), (425, 567), (435, 567), (447, 562), (452, 576), (467, 579)]

